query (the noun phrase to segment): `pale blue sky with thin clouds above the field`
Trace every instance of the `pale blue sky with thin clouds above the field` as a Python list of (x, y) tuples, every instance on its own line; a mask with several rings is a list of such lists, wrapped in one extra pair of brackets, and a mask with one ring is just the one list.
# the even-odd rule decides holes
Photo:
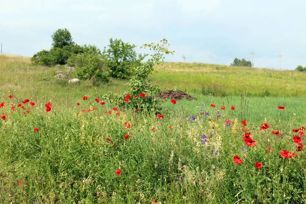
[(140, 46), (166, 38), (165, 61), (254, 67), (306, 66), (305, 0), (0, 0), (3, 54), (32, 57), (68, 29), (79, 45), (103, 50), (110, 38)]

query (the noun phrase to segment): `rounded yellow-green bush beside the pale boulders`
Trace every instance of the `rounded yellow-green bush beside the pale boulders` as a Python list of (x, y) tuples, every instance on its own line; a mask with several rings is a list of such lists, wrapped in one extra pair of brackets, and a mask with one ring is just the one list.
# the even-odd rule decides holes
[(74, 54), (68, 59), (68, 65), (75, 67), (74, 75), (80, 80), (108, 82), (109, 69), (106, 59), (94, 45), (84, 45), (84, 52)]

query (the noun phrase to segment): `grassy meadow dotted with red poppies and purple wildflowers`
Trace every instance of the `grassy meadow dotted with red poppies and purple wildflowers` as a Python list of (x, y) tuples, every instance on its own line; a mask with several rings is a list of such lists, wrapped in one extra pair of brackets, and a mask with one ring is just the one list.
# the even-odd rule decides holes
[(305, 202), (304, 73), (166, 65), (150, 82), (197, 99), (160, 116), (102, 101), (127, 81), (68, 86), (0, 55), (2, 203)]

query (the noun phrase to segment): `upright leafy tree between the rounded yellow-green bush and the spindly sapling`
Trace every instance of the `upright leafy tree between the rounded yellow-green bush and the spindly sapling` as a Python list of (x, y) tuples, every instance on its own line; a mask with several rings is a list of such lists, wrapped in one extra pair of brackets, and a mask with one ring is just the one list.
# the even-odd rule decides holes
[(124, 43), (121, 39), (110, 39), (108, 49), (104, 48), (103, 54), (107, 58), (107, 66), (111, 70), (111, 76), (120, 79), (129, 79), (135, 72), (135, 67), (141, 64), (141, 61), (147, 55), (138, 55), (134, 48), (136, 45)]

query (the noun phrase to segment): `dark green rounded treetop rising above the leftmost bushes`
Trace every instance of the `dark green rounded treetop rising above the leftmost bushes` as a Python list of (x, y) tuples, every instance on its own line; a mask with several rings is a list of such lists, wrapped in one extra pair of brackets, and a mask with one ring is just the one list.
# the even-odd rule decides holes
[(53, 40), (53, 47), (63, 48), (64, 46), (74, 44), (68, 29), (58, 29), (51, 37)]

